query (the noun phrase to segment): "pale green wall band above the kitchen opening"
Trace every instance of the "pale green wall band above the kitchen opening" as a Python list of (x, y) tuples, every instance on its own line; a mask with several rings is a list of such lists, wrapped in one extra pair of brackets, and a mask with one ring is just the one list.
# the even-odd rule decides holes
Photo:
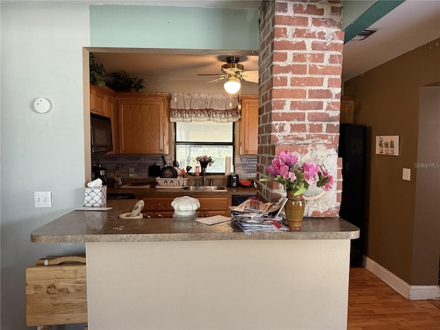
[(90, 44), (94, 47), (258, 50), (258, 17), (256, 9), (91, 5)]

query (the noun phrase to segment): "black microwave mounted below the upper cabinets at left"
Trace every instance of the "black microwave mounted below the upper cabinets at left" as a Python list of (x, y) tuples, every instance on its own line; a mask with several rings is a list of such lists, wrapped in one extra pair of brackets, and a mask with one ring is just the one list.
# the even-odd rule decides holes
[(91, 153), (108, 153), (113, 151), (110, 118), (90, 113), (90, 134)]

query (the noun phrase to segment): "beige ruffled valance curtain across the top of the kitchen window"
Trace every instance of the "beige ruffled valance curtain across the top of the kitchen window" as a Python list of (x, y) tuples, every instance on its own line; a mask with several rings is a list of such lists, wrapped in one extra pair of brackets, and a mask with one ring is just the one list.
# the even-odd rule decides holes
[(173, 93), (171, 122), (236, 122), (240, 119), (239, 100), (223, 94)]

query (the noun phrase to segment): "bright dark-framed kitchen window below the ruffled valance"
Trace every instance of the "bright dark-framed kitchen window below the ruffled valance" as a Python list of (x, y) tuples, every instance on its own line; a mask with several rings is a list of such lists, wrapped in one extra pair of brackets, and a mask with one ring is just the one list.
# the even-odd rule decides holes
[(194, 173), (198, 165), (195, 158), (203, 155), (214, 159), (212, 166), (206, 168), (207, 173), (225, 173), (225, 157), (234, 156), (233, 122), (175, 123), (175, 159), (180, 168), (191, 166)]

